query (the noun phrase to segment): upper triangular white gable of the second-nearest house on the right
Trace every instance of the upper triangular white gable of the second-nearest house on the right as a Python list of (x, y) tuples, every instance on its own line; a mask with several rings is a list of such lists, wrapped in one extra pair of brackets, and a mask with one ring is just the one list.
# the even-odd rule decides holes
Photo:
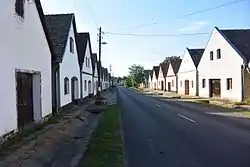
[(178, 73), (185, 73), (191, 71), (196, 71), (196, 67), (194, 65), (193, 59), (191, 58), (188, 52), (188, 49), (186, 49)]

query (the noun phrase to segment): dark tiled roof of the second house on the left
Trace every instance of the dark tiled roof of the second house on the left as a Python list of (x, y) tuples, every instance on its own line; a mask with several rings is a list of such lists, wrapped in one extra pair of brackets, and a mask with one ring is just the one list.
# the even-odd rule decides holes
[(74, 19), (74, 14), (45, 15), (49, 36), (55, 51), (52, 60), (56, 62), (62, 62), (72, 19)]

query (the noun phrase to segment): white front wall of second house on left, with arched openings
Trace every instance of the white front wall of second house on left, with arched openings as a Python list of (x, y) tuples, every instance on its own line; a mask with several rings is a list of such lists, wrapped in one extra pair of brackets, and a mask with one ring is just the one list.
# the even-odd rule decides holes
[[(70, 52), (70, 37), (74, 40), (74, 53)], [(76, 50), (76, 44), (75, 44), (75, 34), (74, 34), (74, 28), (73, 24), (71, 24), (69, 36), (67, 45), (65, 48), (65, 52), (63, 55), (63, 61), (60, 64), (60, 98), (61, 98), (61, 107), (71, 103), (72, 101), (72, 91), (71, 91), (71, 79), (73, 77), (76, 77), (78, 79), (78, 93), (77, 97), (80, 98), (80, 71), (79, 71), (79, 64), (78, 64), (78, 55)], [(64, 78), (69, 78), (69, 94), (64, 94)], [(77, 91), (76, 91), (77, 92)], [(75, 92), (75, 93), (76, 93)]]

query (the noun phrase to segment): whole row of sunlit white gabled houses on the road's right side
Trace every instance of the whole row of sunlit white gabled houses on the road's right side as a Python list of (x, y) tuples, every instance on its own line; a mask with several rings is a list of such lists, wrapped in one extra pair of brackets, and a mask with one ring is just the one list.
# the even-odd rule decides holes
[(250, 98), (250, 29), (215, 27), (204, 48), (186, 48), (145, 70), (146, 87), (179, 94), (243, 101)]

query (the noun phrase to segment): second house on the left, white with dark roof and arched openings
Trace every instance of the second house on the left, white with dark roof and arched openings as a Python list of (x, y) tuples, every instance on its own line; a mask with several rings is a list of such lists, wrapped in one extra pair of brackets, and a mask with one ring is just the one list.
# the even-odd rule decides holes
[(74, 14), (45, 16), (53, 43), (53, 108), (63, 107), (80, 98), (80, 70), (76, 47)]

